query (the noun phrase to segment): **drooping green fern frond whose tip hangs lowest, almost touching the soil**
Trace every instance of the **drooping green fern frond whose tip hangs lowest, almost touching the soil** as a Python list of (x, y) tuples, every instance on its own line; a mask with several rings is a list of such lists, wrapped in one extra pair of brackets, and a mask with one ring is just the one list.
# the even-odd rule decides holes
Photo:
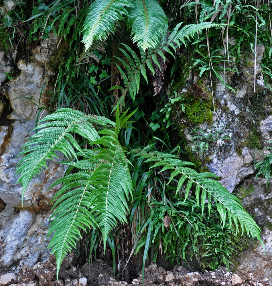
[(88, 180), (90, 176), (85, 174), (87, 178), (84, 180), (82, 172), (73, 175), (73, 181), (64, 180), (62, 188), (54, 197), (61, 195), (53, 206), (56, 208), (48, 232), (48, 236), (54, 233), (48, 248), (53, 247), (52, 253), (56, 256), (57, 278), (64, 257), (82, 238), (80, 229), (86, 231), (95, 228), (95, 219), (90, 210), (93, 191), (93, 186)]

